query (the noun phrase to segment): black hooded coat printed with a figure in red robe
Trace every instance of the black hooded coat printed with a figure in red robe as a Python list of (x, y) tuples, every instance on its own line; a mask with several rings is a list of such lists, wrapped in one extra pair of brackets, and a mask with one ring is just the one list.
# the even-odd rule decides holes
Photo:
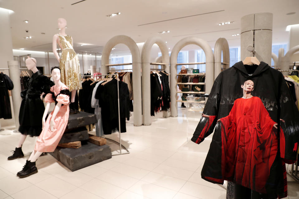
[[(254, 100), (250, 110), (248, 105), (241, 106), (242, 99), (238, 99), (243, 96), (241, 85), (249, 79), (254, 82), (251, 95), (255, 96), (245, 99)], [(225, 118), (230, 112), (235, 117), (233, 122), (228, 119), (230, 117)], [(296, 160), (299, 112), (281, 72), (265, 62), (253, 66), (237, 62), (216, 78), (203, 114), (210, 117), (200, 119), (191, 139), (199, 144), (215, 128), (202, 168), (203, 179), (219, 184), (228, 180), (260, 193), (287, 196), (285, 162)], [(221, 122), (216, 124), (220, 118)], [(280, 131), (272, 128), (274, 122), (278, 123)], [(262, 175), (257, 170), (259, 166), (267, 168)]]

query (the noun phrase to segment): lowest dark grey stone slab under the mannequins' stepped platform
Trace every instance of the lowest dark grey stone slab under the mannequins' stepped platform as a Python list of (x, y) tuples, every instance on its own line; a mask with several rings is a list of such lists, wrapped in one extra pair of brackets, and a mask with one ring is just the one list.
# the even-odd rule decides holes
[(57, 147), (50, 155), (71, 171), (82, 169), (112, 157), (110, 146), (97, 146), (90, 142), (86, 142), (78, 149)]

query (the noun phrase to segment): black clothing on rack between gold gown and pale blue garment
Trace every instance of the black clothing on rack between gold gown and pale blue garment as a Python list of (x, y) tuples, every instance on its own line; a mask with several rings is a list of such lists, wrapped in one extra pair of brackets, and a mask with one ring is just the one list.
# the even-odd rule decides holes
[(82, 89), (79, 90), (79, 106), (82, 111), (94, 114), (94, 108), (91, 107), (91, 97), (89, 97), (93, 92), (91, 83), (93, 83), (91, 80), (82, 83)]

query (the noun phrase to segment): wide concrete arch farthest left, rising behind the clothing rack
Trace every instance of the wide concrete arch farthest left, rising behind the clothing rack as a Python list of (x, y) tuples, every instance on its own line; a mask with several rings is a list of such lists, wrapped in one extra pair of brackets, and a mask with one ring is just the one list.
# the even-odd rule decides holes
[(142, 125), (142, 99), (141, 99), (141, 59), (140, 51), (137, 44), (131, 37), (126, 35), (117, 35), (112, 37), (104, 46), (102, 52), (102, 67), (101, 73), (107, 74), (109, 64), (109, 55), (112, 48), (117, 44), (125, 44), (132, 54), (132, 82), (133, 82), (133, 97), (134, 97), (134, 126)]

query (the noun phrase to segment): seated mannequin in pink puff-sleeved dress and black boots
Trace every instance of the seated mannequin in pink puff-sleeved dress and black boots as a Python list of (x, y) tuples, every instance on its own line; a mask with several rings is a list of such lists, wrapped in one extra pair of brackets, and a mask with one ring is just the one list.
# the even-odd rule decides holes
[[(20, 178), (25, 178), (37, 173), (36, 160), (43, 152), (53, 152), (58, 145), (69, 120), (69, 88), (60, 81), (60, 68), (52, 67), (51, 76), (55, 85), (50, 93), (45, 96), (47, 103), (42, 118), (43, 130), (37, 138), (36, 145), (23, 169), (17, 173)], [(54, 110), (45, 118), (50, 108), (50, 103), (55, 102)]]

